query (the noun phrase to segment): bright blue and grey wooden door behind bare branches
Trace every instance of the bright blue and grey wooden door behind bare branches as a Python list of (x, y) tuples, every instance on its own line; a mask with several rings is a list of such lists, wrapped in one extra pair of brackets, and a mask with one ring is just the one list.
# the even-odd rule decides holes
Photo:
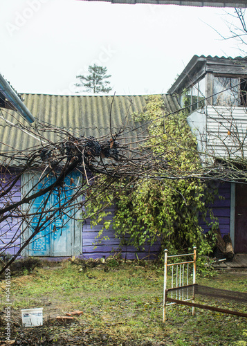
[[(42, 229), (30, 242), (28, 255), (60, 257), (80, 254), (80, 223), (75, 220), (78, 212), (73, 207), (73, 203), (70, 203), (79, 180), (79, 173), (71, 174), (64, 179), (64, 184), (56, 188), (52, 194), (46, 193), (37, 197), (29, 206), (28, 213), (34, 216), (29, 218), (28, 236), (35, 231), (37, 226), (42, 225)], [(37, 184), (35, 188), (37, 191), (54, 182), (54, 176), (46, 176), (42, 181), (39, 181), (39, 176), (32, 179), (32, 183)], [(28, 185), (30, 186), (30, 183)], [(68, 203), (66, 210), (64, 212), (56, 211), (64, 203)]]

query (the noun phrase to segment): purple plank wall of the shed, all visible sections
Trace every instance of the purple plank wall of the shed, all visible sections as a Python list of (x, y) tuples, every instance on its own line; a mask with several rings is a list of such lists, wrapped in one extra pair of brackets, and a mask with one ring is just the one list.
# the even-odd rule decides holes
[[(8, 184), (8, 179), (10, 176), (5, 176), (4, 179), (0, 176), (0, 188), (4, 188)], [(19, 201), (21, 192), (20, 192), (21, 183), (17, 182), (15, 188), (12, 189), (12, 201)], [(219, 229), (221, 231), (221, 235), (225, 235), (230, 233), (230, 183), (221, 183), (219, 185), (219, 196), (223, 196), (224, 199), (216, 199), (214, 204), (211, 206), (214, 212), (214, 216), (219, 219)], [(0, 208), (5, 205), (6, 199), (2, 199), (0, 201)], [(110, 210), (114, 212), (114, 208)], [(127, 259), (154, 259), (158, 251), (160, 250), (160, 243), (157, 241), (153, 246), (145, 245), (144, 251), (140, 251), (139, 249), (134, 248), (134, 246), (122, 246), (122, 249), (119, 247), (120, 240), (115, 237), (114, 230), (110, 227), (109, 230), (105, 230), (102, 236), (107, 236), (109, 239), (103, 239), (100, 244), (96, 247), (95, 237), (98, 235), (99, 230), (102, 228), (102, 224), (107, 219), (111, 219), (112, 215), (109, 215), (104, 219), (99, 225), (93, 226), (91, 228), (90, 220), (86, 220), (86, 222), (82, 226), (82, 257), (86, 258), (100, 258), (103, 255), (106, 257), (109, 255), (113, 255), (115, 253), (119, 253), (122, 251), (122, 257), (126, 257)], [(210, 221), (208, 217), (208, 221)], [(207, 232), (210, 228), (205, 221), (200, 219), (200, 226), (203, 228), (205, 232)], [(1, 248), (5, 244), (8, 244), (13, 237), (15, 237), (15, 242), (12, 244), (10, 248), (8, 248), (8, 253), (15, 254), (19, 250), (20, 246), (20, 230), (18, 219), (8, 218), (6, 221), (3, 221), (0, 224), (0, 251)]]

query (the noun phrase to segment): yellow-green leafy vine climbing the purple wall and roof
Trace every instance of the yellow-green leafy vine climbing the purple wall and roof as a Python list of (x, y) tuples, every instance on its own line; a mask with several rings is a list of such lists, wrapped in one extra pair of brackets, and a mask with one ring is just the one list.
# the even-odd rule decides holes
[[(185, 114), (165, 116), (167, 113), (162, 96), (152, 95), (147, 99), (145, 111), (134, 114), (136, 121), (148, 124), (145, 145), (152, 146), (156, 156), (165, 158), (167, 165), (157, 172), (154, 180), (116, 181), (118, 193), (114, 198), (110, 191), (104, 198), (101, 196), (89, 208), (89, 215), (93, 214), (92, 222), (98, 224), (109, 213), (102, 211), (97, 215), (97, 208), (115, 203), (116, 212), (111, 222), (122, 244), (141, 248), (158, 240), (161, 248), (184, 251), (195, 245), (199, 255), (208, 254), (210, 244), (199, 226), (199, 217), (210, 217), (211, 227), (217, 227), (212, 210), (207, 208), (216, 191), (209, 190), (205, 182), (190, 177), (191, 172), (201, 169), (201, 163)], [(107, 228), (109, 220), (100, 235)]]

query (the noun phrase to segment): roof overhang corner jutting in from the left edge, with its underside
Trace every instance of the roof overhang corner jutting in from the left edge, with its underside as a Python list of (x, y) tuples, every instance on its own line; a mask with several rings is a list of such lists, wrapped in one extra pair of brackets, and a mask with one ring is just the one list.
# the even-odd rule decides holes
[(0, 74), (0, 107), (12, 109), (17, 111), (26, 121), (34, 122), (35, 118), (28, 111), (24, 102), (22, 102), (19, 95), (15, 92), (14, 89), (8, 84), (5, 78)]

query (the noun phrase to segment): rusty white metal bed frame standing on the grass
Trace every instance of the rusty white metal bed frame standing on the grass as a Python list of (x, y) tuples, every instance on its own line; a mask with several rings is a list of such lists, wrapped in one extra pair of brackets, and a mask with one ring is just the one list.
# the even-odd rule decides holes
[[(183, 258), (193, 257), (193, 260), (185, 260)], [(179, 257), (183, 257), (181, 261)], [(168, 263), (168, 259), (176, 258), (177, 263)], [(167, 289), (167, 270), (171, 268), (171, 286)], [(201, 304), (201, 301), (211, 304)], [(199, 302), (198, 302), (199, 301)], [(221, 309), (219, 303), (228, 305), (228, 309)], [(214, 303), (214, 304), (212, 304)], [(208, 286), (196, 284), (196, 247), (193, 248), (193, 253), (185, 253), (183, 255), (168, 256), (168, 251), (165, 250), (165, 265), (164, 265), (164, 292), (163, 292), (163, 322), (166, 318), (166, 307), (172, 304), (183, 304), (192, 307), (192, 316), (194, 316), (195, 308), (208, 309), (232, 315), (247, 317), (247, 293), (236, 291), (228, 291), (223, 289), (214, 289)], [(246, 310), (245, 312), (231, 309), (240, 307)]]

